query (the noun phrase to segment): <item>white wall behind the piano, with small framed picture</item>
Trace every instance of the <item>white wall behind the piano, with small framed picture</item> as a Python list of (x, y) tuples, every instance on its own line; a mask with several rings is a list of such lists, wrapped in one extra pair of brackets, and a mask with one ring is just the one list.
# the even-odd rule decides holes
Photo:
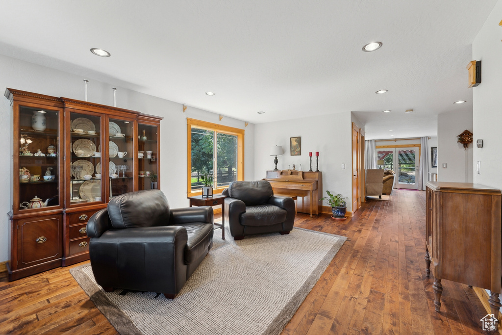
[[(319, 152), (319, 171), (322, 171), (323, 196), (325, 191), (340, 193), (352, 198), (352, 125), (351, 113), (344, 112), (329, 116), (308, 117), (255, 125), (255, 180), (265, 177), (265, 171), (274, 169), (274, 157), (270, 148), (283, 147), (278, 157), (277, 168), (284, 170), (288, 165), (302, 164), (309, 170), (309, 152), (313, 152), (312, 170), (316, 168), (315, 152)], [(291, 137), (301, 136), (302, 155), (291, 156)], [(341, 164), (345, 169), (341, 169)], [(324, 203), (326, 205), (326, 203)], [(347, 210), (352, 210), (347, 201)]]

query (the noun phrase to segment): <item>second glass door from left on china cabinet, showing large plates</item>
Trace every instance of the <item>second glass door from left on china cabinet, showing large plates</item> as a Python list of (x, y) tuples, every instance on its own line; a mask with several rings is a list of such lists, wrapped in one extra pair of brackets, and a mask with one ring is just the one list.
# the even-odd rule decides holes
[(102, 197), (101, 117), (70, 112), (70, 205)]

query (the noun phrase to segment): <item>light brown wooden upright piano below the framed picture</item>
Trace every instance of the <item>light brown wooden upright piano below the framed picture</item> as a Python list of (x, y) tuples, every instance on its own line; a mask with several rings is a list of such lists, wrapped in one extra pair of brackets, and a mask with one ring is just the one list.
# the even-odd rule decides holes
[(322, 172), (298, 170), (267, 171), (266, 177), (275, 195), (297, 196), (297, 211), (319, 214), (322, 203)]

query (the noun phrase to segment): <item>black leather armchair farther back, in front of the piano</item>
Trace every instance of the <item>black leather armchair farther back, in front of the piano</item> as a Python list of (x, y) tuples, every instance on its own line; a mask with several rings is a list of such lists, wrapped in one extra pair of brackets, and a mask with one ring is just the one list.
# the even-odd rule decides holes
[(225, 222), (234, 240), (261, 233), (285, 235), (293, 230), (295, 202), (290, 197), (274, 196), (268, 181), (234, 181), (222, 194), (227, 196)]

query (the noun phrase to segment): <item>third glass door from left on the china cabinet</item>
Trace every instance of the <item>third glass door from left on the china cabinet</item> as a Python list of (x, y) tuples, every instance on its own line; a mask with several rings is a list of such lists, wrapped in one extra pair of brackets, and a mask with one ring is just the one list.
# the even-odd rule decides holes
[(110, 198), (134, 189), (134, 120), (108, 120)]

